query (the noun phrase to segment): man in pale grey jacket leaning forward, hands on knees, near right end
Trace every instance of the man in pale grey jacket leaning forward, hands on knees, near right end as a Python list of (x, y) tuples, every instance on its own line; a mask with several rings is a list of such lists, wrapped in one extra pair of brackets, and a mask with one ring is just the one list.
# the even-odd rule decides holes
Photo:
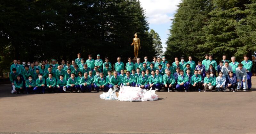
[[(244, 91), (247, 91), (247, 73), (246, 73), (246, 68), (243, 67), (244, 65), (242, 63), (238, 64), (238, 67), (236, 68), (236, 81), (237, 81), (237, 90), (240, 90), (240, 85), (241, 89), (244, 88)], [(243, 86), (241, 84), (241, 81), (243, 81)]]

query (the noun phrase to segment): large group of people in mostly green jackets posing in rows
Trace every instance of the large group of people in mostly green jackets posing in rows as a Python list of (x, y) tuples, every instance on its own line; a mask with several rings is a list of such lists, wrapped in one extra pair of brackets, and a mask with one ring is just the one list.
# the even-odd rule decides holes
[[(175, 57), (168, 62), (165, 56), (154, 57), (152, 62), (144, 56), (144, 61), (136, 58), (127, 59), (127, 63), (112, 64), (108, 57), (103, 60), (81, 58), (72, 61), (62, 60), (58, 64), (55, 59), (51, 63), (45, 61), (26, 62), (14, 59), (10, 67), (10, 81), (16, 93), (65, 93), (65, 92), (107, 92), (114, 86), (133, 86), (142, 89), (178, 92), (236, 92), (251, 90), (252, 61), (248, 56), (236, 62), (236, 57), (226, 55), (216, 62), (212, 55), (206, 54), (203, 61), (193, 61), (193, 57)], [(123, 59), (125, 60), (125, 59)]]

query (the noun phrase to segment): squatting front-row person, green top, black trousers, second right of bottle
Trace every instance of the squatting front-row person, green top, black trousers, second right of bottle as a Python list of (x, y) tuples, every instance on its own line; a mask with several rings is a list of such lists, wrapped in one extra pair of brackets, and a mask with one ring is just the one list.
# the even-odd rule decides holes
[(195, 70), (194, 75), (191, 77), (190, 90), (192, 91), (198, 90), (198, 92), (201, 92), (201, 89), (200, 89), (201, 81), (202, 81), (201, 75), (198, 75), (198, 70)]

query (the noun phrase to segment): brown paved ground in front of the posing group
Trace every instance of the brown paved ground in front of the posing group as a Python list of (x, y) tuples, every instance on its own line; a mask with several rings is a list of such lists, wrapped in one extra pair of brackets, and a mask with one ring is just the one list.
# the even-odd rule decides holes
[(0, 133), (256, 133), (256, 78), (251, 92), (157, 92), (151, 102), (9, 87), (0, 86)]

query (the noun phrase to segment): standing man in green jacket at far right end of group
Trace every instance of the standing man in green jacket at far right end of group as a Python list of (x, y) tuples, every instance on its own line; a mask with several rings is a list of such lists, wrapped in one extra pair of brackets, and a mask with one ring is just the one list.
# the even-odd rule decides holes
[(243, 67), (246, 69), (247, 72), (247, 86), (248, 86), (248, 90), (250, 91), (252, 88), (252, 61), (248, 60), (249, 57), (248, 56), (244, 56), (244, 61), (242, 61), (241, 63), (244, 65)]

